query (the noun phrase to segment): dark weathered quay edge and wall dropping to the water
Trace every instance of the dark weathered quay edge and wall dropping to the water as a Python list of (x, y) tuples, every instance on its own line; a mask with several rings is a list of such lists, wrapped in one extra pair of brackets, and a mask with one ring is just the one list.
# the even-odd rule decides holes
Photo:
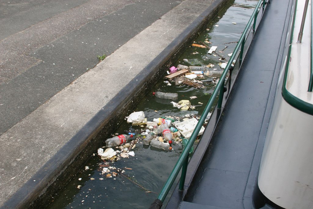
[[(72, 137), (38, 172), (6, 201), (4, 208), (38, 208), (49, 204), (50, 198), (66, 185), (93, 151), (136, 107), (182, 51), (206, 24), (231, 0), (214, 1), (171, 44), (151, 61), (129, 84), (105, 105), (78, 133)], [(34, 181), (35, 180), (35, 181)]]

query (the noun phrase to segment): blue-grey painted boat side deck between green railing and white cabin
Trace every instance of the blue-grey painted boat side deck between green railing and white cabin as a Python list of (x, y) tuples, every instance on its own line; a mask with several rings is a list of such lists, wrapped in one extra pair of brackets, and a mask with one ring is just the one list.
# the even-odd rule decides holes
[[(254, 208), (252, 196), (283, 60), (291, 4), (292, 0), (273, 0), (267, 5), (209, 149), (180, 208)], [(205, 131), (201, 140), (210, 135)], [(175, 192), (167, 208), (174, 208), (173, 202), (178, 199)]]

